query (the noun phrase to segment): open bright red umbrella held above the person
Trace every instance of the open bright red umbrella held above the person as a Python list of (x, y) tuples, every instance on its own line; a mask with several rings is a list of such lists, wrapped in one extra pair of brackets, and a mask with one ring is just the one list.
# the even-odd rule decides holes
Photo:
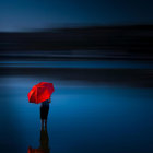
[(27, 94), (28, 102), (39, 104), (46, 99), (49, 99), (54, 93), (54, 84), (48, 82), (40, 82), (32, 87)]

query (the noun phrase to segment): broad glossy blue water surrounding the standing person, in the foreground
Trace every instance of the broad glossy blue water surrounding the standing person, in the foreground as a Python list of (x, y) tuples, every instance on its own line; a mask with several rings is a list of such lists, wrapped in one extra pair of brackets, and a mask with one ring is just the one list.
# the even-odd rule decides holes
[(0, 81), (0, 153), (39, 146), (39, 105), (30, 104), (27, 93), (40, 81), (55, 84), (47, 128), (50, 153), (153, 152), (153, 89), (67, 85), (27, 75)]

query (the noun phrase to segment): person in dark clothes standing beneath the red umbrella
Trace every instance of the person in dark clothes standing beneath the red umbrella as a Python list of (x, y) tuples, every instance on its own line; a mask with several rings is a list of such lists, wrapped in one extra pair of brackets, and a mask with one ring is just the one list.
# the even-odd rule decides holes
[(42, 120), (42, 129), (45, 126), (45, 129), (47, 129), (47, 118), (48, 118), (48, 111), (49, 111), (49, 103), (51, 103), (51, 98), (44, 101), (40, 104), (40, 120)]

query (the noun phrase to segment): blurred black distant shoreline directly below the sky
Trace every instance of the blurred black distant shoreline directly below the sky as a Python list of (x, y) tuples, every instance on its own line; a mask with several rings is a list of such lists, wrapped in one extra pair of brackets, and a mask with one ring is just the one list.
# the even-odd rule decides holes
[(153, 25), (47, 28), (39, 32), (0, 33), (0, 54), (31, 55), (42, 50), (46, 51), (45, 57), (48, 51), (48, 56), (52, 54), (52, 57), (54, 55), (66, 57), (73, 55), (83, 58), (85, 54), (91, 57), (98, 55), (123, 59), (153, 58)]

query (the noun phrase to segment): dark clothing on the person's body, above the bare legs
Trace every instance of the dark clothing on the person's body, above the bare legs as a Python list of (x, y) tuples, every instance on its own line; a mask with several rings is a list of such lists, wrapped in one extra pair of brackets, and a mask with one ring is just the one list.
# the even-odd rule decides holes
[(49, 111), (49, 101), (45, 101), (40, 105), (40, 119), (47, 120), (48, 117), (48, 111)]

